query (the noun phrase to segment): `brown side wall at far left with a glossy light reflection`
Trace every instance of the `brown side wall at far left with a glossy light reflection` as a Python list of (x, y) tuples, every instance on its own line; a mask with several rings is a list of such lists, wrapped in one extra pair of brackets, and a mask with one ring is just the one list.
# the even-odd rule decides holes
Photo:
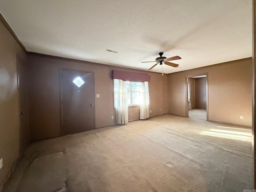
[(26, 60), (26, 53), (0, 21), (0, 184), (20, 155), (16, 54)]

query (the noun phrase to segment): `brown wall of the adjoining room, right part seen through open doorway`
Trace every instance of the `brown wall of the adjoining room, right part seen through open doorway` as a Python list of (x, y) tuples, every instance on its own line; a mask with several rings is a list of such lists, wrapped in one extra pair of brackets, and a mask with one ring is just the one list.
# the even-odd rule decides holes
[(196, 108), (206, 109), (206, 77), (195, 79)]

